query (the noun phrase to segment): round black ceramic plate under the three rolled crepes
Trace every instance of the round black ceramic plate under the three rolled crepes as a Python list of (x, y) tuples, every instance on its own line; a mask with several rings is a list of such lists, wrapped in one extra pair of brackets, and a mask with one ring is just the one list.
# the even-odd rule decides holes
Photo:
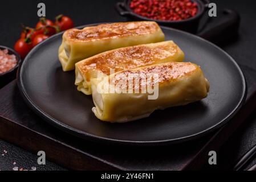
[(227, 53), (204, 39), (171, 28), (162, 30), (166, 40), (174, 40), (185, 52), (185, 60), (200, 65), (210, 81), (210, 93), (204, 100), (155, 111), (139, 121), (101, 122), (91, 111), (92, 97), (76, 90), (74, 71), (62, 71), (58, 60), (62, 34), (32, 49), (19, 69), (19, 89), (27, 104), (47, 122), (97, 142), (170, 144), (199, 137), (224, 125), (245, 99), (241, 69)]

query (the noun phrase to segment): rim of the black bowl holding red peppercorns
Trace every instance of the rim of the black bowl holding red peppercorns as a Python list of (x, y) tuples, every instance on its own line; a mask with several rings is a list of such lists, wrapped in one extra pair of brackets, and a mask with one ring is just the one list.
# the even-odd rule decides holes
[(136, 16), (137, 18), (148, 20), (148, 21), (155, 21), (157, 23), (162, 23), (162, 24), (185, 23), (185, 22), (189, 22), (189, 21), (198, 19), (202, 16), (202, 14), (204, 14), (205, 9), (206, 9), (206, 5), (208, 5), (208, 3), (204, 3), (202, 0), (192, 0), (193, 2), (197, 3), (198, 10), (200, 10), (200, 12), (198, 12), (195, 16), (192, 16), (192, 17), (187, 18), (187, 19), (182, 19), (182, 20), (159, 20), (159, 19), (147, 18), (145, 16), (141, 16), (139, 14), (134, 13), (133, 10), (129, 6), (131, 1), (132, 0), (124, 0), (124, 6), (125, 6), (125, 9), (129, 12), (129, 15)]

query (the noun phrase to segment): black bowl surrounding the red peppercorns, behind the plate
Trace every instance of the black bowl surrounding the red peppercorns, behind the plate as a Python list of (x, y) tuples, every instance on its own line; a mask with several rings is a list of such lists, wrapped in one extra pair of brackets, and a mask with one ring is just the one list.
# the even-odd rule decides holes
[(124, 2), (116, 3), (116, 10), (119, 12), (121, 16), (126, 16), (128, 20), (148, 20), (148, 21), (155, 21), (161, 26), (177, 28), (180, 30), (196, 33), (200, 20), (206, 10), (208, 9), (209, 0), (192, 0), (193, 2), (197, 3), (198, 6), (198, 13), (196, 16), (192, 18), (184, 19), (184, 20), (177, 20), (177, 21), (169, 21), (169, 20), (156, 20), (156, 19), (149, 19), (144, 16), (140, 16), (134, 13), (130, 8), (131, 0), (124, 0)]

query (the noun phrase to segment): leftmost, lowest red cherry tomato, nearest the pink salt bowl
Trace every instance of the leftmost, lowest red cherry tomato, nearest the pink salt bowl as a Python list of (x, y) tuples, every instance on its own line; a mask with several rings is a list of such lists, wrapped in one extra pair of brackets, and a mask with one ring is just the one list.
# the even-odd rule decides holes
[(27, 54), (29, 53), (29, 51), (32, 49), (32, 44), (31, 44), (31, 42), (27, 42), (26, 39), (19, 39), (15, 43), (14, 49), (24, 59), (27, 56)]

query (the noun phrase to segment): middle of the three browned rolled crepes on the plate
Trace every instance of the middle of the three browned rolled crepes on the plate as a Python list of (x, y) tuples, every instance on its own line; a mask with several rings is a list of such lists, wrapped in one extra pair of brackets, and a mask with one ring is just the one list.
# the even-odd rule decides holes
[(111, 69), (119, 72), (183, 60), (184, 53), (173, 41), (114, 49), (76, 63), (75, 85), (80, 92), (90, 95), (91, 79), (111, 75)]

